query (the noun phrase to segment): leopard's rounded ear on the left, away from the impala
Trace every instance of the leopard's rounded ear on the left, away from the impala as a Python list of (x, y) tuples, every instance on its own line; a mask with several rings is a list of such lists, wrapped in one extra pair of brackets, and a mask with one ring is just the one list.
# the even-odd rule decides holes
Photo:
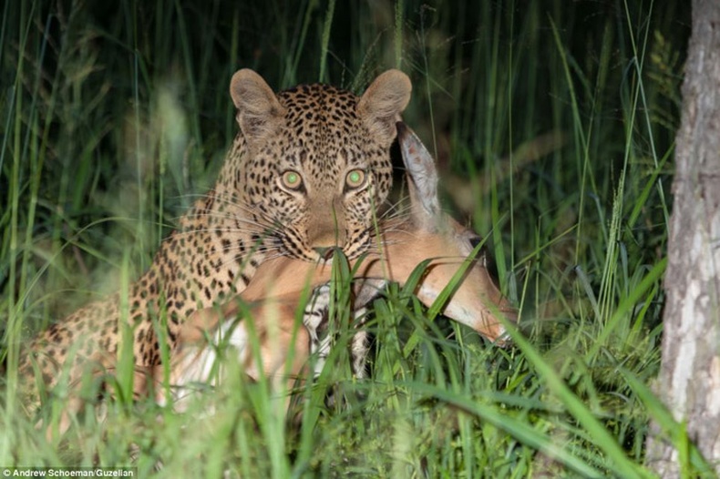
[(238, 109), (237, 120), (242, 135), (251, 145), (273, 132), (285, 114), (273, 89), (251, 69), (235, 72), (230, 82), (230, 95)]

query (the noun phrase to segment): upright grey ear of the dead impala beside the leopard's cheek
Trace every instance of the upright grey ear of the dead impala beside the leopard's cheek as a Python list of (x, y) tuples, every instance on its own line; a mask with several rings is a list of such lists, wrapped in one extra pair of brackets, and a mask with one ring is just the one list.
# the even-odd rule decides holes
[(403, 153), (410, 192), (413, 222), (420, 229), (437, 229), (440, 201), (437, 199), (437, 169), (435, 159), (420, 138), (405, 123), (397, 122), (397, 140)]

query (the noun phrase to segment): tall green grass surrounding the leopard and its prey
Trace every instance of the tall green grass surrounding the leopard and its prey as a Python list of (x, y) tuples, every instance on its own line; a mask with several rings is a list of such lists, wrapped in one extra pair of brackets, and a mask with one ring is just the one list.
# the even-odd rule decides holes
[[(651, 416), (686, 442), (648, 392), (686, 10), (6, 2), (0, 464), (129, 464), (135, 444), (141, 476), (649, 475)], [(447, 208), (489, 237), (521, 311), (516, 346), (429, 321), (393, 287), (368, 325), (371, 379), (351, 379), (338, 349), (300, 388), (299, 424), (278, 415), (266, 382), (238, 373), (189, 413), (110, 402), (104, 422), (80, 415), (48, 443), (15, 398), (19, 349), (137, 277), (211, 187), (236, 128), (229, 79), (243, 66), (278, 88), (323, 80), (360, 91), (394, 66), (412, 77), (406, 123), (436, 155)], [(329, 388), (345, 402), (326, 406)], [(209, 403), (215, 413), (202, 415)], [(695, 454), (684, 457), (688, 475), (702, 474)]]

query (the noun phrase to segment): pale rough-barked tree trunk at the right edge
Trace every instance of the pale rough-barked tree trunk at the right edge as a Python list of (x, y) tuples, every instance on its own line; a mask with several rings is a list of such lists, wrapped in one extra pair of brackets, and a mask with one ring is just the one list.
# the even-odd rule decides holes
[[(720, 474), (720, 2), (692, 7), (656, 391)], [(675, 478), (677, 458), (653, 424), (646, 463)]]

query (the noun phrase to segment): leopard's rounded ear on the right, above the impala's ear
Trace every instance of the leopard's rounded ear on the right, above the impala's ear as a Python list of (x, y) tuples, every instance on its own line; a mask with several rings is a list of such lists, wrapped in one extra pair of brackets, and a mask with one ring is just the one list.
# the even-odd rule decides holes
[(387, 147), (396, 137), (396, 122), (410, 101), (413, 86), (400, 70), (387, 70), (367, 87), (357, 111), (370, 133)]

